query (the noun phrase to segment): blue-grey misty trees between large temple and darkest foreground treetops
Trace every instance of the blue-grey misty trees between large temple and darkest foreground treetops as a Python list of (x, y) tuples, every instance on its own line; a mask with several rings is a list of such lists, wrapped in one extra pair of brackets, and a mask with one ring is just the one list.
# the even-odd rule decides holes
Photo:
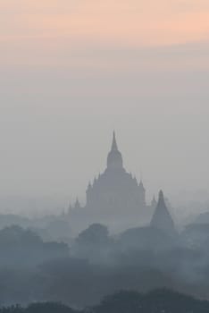
[(0, 231), (0, 305), (62, 301), (89, 307), (118, 290), (168, 288), (208, 300), (209, 234), (190, 226), (168, 235), (152, 227), (113, 236), (102, 224), (71, 246), (19, 226)]

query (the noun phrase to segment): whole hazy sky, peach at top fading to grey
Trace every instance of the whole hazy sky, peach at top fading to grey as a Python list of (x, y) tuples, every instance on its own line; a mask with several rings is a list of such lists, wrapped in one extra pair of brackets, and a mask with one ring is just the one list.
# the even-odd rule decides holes
[(1, 0), (0, 51), (0, 196), (84, 200), (113, 130), (148, 199), (208, 192), (208, 0)]

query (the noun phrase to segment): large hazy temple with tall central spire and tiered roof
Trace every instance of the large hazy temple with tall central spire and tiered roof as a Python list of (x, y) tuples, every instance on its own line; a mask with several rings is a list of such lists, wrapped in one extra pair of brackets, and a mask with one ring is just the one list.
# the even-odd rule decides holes
[(88, 184), (86, 205), (79, 200), (70, 207), (72, 226), (83, 228), (92, 223), (103, 223), (109, 227), (123, 227), (148, 224), (155, 209), (146, 205), (146, 190), (143, 182), (128, 173), (118, 148), (115, 133), (111, 150), (107, 156), (104, 173)]

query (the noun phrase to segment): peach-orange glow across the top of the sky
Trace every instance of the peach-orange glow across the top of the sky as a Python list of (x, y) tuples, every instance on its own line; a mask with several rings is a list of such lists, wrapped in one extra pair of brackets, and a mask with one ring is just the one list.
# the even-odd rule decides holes
[(70, 53), (89, 46), (138, 48), (209, 41), (205, 0), (3, 0), (0, 14), (0, 63), (59, 64), (65, 48)]

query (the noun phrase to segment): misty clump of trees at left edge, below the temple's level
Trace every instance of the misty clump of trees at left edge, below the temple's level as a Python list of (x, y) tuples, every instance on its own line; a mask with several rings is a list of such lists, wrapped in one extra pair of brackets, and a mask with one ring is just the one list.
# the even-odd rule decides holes
[(69, 257), (67, 244), (44, 242), (37, 233), (18, 225), (0, 230), (0, 251), (0, 266), (14, 268), (36, 266), (53, 258)]

